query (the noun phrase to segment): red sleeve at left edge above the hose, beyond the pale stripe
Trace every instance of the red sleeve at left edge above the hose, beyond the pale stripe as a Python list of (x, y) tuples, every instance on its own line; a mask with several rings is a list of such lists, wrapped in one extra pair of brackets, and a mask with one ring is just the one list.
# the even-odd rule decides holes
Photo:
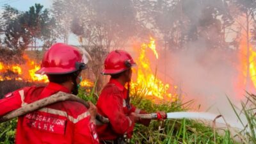
[(4, 99), (0, 99), (0, 116), (3, 116), (6, 113), (9, 113), (10, 111), (13, 111), (21, 107), (22, 100), (19, 91), (20, 90), (8, 93), (7, 95), (4, 95)]

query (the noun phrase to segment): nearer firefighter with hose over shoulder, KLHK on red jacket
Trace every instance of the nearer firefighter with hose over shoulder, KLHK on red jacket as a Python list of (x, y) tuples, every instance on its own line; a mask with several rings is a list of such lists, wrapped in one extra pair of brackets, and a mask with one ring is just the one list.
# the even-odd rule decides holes
[[(52, 45), (36, 72), (46, 74), (49, 84), (8, 93), (0, 100), (0, 116), (60, 91), (76, 95), (81, 71), (86, 68), (84, 58), (75, 47), (61, 43)], [(74, 101), (51, 104), (19, 116), (15, 143), (99, 143), (95, 131), (96, 114), (97, 108), (92, 103), (89, 109)]]

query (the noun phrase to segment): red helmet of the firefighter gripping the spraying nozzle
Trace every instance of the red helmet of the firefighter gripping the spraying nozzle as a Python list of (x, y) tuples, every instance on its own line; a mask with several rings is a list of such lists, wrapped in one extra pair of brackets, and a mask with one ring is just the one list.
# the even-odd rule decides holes
[(104, 62), (105, 68), (102, 71), (102, 74), (119, 74), (134, 65), (136, 65), (136, 63), (132, 60), (132, 57), (128, 52), (122, 50), (112, 51), (108, 54)]

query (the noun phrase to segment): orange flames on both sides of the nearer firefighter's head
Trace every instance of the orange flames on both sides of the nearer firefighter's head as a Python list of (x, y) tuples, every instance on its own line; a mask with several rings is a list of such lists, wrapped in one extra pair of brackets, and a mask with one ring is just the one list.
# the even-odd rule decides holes
[[(40, 69), (40, 65), (31, 60), (27, 55), (23, 56), (26, 63), (22, 65), (7, 65), (0, 62), (0, 81), (4, 80), (20, 80), (20, 81), (29, 81), (29, 82), (40, 82), (47, 83), (48, 78), (45, 75), (35, 74), (36, 70)], [(5, 76), (7, 72), (12, 72), (15, 76)], [(85, 79), (81, 82), (81, 86), (93, 86), (93, 82), (88, 79)]]

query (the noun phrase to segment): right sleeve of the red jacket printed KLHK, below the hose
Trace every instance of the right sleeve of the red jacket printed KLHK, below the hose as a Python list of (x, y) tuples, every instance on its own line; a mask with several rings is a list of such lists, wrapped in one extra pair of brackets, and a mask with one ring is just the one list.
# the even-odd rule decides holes
[(83, 118), (75, 124), (74, 144), (98, 144), (99, 138), (96, 132), (96, 125), (90, 122), (90, 116)]

